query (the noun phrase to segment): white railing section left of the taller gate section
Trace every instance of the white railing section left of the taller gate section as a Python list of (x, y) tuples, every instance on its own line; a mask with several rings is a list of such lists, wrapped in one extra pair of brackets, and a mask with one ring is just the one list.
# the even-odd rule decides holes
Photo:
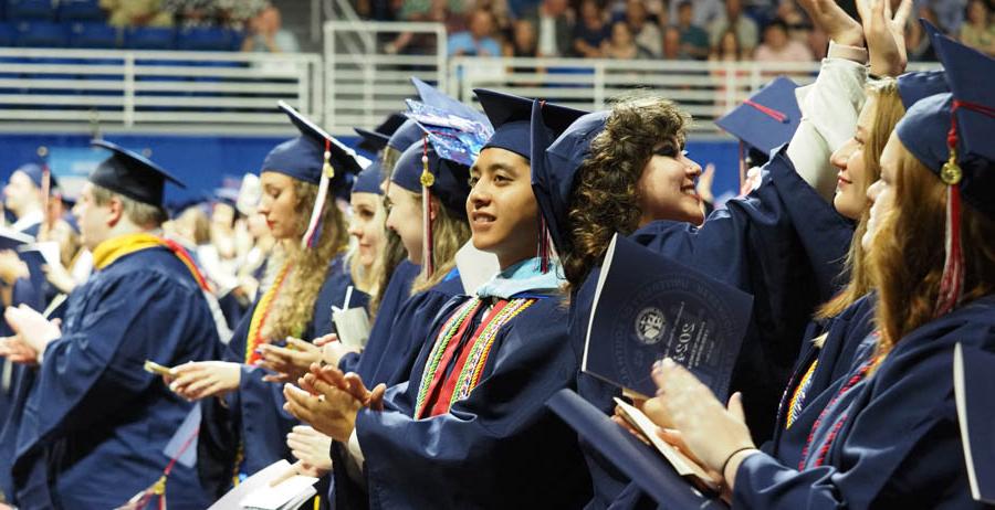
[(0, 49), (0, 129), (287, 132), (280, 99), (320, 117), (322, 59)]

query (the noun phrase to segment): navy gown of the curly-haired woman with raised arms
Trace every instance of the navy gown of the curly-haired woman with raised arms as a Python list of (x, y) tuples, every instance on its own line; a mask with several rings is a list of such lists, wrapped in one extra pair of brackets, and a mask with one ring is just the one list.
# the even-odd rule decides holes
[[(785, 147), (763, 167), (761, 185), (713, 212), (701, 227), (657, 221), (630, 238), (754, 296), (750, 327), (733, 370), (731, 391), (743, 392), (746, 422), (757, 442), (771, 437), (777, 403), (815, 308), (838, 290), (852, 224), (795, 171)], [(570, 341), (584, 352), (598, 269), (576, 293)], [(585, 373), (578, 393), (612, 413), (620, 391)], [(589, 451), (590, 448), (585, 448)], [(629, 480), (597, 457), (587, 459), (593, 508), (615, 500)]]

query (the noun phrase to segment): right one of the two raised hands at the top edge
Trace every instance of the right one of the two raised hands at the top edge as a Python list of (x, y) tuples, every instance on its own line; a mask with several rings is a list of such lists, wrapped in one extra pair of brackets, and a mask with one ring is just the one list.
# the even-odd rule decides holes
[(912, 0), (902, 0), (892, 14), (891, 0), (857, 0), (863, 38), (870, 53), (870, 72), (878, 76), (898, 76), (905, 71), (905, 23)]

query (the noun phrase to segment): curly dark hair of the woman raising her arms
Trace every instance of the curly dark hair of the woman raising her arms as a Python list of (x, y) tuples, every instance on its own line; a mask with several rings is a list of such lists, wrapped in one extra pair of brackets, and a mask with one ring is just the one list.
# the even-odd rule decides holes
[(561, 254), (570, 287), (579, 286), (600, 263), (616, 232), (628, 235), (639, 227), (642, 211), (637, 183), (646, 163), (660, 142), (683, 145), (689, 123), (672, 102), (646, 92), (625, 96), (612, 106), (574, 183), (568, 246)]

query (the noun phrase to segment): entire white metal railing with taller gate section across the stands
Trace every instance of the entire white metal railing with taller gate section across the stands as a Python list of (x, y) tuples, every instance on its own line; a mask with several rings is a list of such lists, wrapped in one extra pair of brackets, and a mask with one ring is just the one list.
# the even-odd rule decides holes
[[(407, 46), (398, 50), (399, 41)], [(648, 88), (690, 113), (695, 136), (779, 74), (819, 64), (447, 56), (440, 23), (329, 21), (324, 52), (262, 54), (0, 49), (0, 131), (290, 134), (283, 99), (334, 135), (371, 127), (415, 95), (411, 76), (467, 103), (496, 88), (583, 109)], [(915, 70), (936, 64), (917, 64)]]

